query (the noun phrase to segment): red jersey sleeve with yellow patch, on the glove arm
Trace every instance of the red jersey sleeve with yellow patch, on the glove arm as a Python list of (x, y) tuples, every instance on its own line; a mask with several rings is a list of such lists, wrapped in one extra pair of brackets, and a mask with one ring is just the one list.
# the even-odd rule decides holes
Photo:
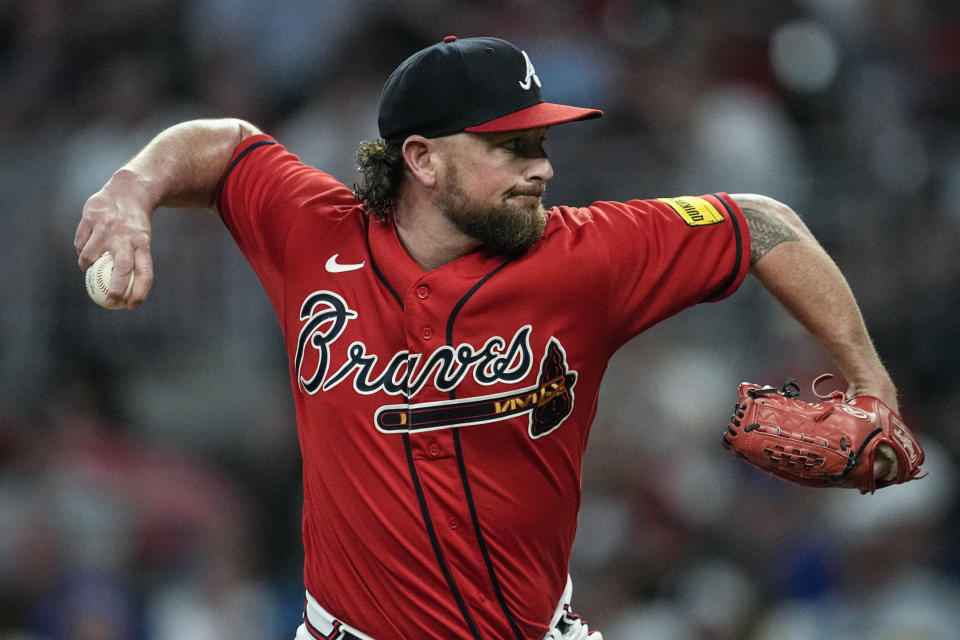
[(600, 202), (612, 346), (701, 302), (733, 293), (750, 266), (743, 212), (725, 193)]

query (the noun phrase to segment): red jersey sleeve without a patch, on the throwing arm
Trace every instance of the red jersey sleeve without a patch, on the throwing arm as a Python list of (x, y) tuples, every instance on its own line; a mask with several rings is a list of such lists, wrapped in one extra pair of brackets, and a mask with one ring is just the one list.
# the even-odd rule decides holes
[(352, 207), (357, 201), (338, 180), (261, 134), (237, 146), (215, 204), (276, 306), (287, 235), (298, 217), (308, 209)]

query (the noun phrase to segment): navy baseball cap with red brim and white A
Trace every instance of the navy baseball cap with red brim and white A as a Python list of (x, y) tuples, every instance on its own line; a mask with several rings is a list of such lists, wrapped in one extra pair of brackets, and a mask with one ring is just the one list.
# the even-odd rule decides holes
[(397, 67), (380, 94), (380, 137), (438, 138), (598, 118), (598, 109), (544, 101), (530, 57), (500, 38), (447, 36)]

